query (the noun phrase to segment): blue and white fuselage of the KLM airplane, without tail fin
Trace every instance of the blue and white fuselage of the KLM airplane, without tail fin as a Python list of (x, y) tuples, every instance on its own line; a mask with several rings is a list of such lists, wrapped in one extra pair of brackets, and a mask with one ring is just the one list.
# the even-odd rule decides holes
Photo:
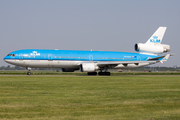
[[(80, 51), (80, 50), (44, 50), (27, 49), (9, 53), (4, 60), (7, 63), (22, 67), (35, 68), (79, 68), (82, 63), (120, 63), (114, 68), (140, 67), (149, 65), (147, 60), (159, 57), (128, 52), (113, 51)], [(161, 60), (163, 58), (160, 58)], [(139, 63), (141, 61), (141, 63)], [(128, 65), (121, 65), (126, 64)], [(136, 65), (135, 63), (139, 63)]]

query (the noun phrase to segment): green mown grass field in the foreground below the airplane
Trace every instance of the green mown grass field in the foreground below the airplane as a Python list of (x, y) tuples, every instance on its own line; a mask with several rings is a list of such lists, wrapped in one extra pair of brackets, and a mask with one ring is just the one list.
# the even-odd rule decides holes
[(0, 76), (0, 119), (180, 120), (180, 76)]

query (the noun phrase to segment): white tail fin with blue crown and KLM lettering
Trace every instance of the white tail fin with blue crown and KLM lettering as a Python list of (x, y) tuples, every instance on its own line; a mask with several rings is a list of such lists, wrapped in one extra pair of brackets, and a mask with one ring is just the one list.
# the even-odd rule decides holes
[(145, 44), (161, 44), (167, 27), (159, 27)]

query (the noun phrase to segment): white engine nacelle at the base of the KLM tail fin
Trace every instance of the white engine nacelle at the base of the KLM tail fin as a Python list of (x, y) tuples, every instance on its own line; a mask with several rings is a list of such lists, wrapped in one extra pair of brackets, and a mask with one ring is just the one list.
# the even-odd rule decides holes
[(135, 44), (135, 50), (137, 52), (160, 54), (170, 51), (170, 45), (138, 43)]

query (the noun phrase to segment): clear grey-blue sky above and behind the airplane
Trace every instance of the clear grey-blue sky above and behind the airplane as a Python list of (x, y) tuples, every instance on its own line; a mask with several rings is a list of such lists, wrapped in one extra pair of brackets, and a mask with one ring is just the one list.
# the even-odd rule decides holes
[(160, 26), (180, 65), (180, 0), (0, 0), (0, 66), (20, 49), (136, 52)]

